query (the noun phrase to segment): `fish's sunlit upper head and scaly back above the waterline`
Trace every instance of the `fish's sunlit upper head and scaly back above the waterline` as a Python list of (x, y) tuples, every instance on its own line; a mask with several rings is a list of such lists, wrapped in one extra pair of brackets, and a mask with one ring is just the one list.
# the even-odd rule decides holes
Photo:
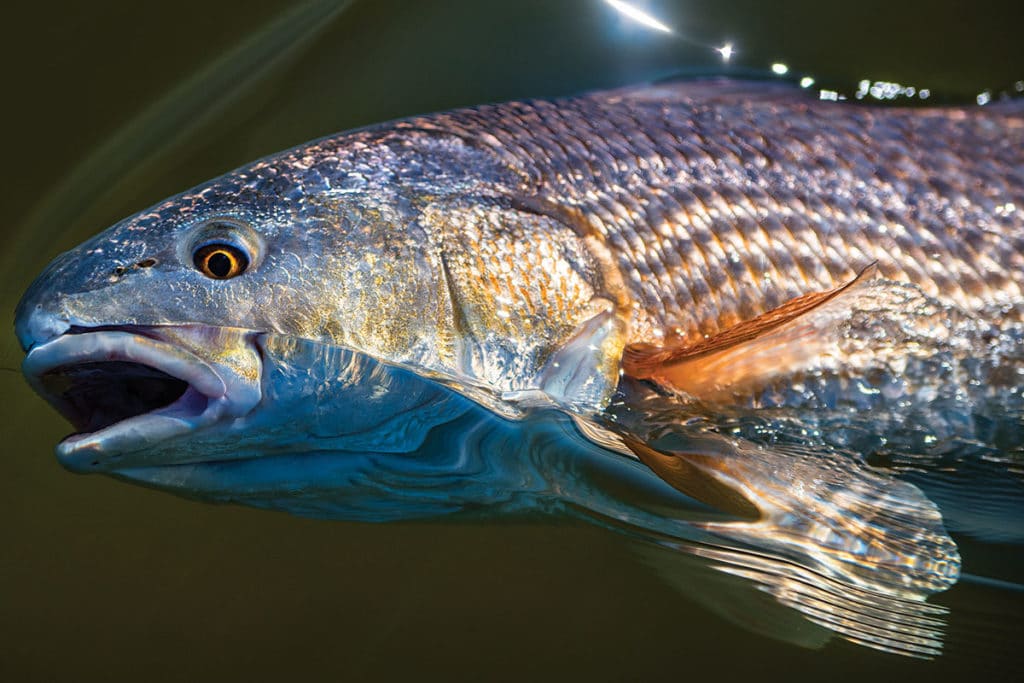
[[(509, 413), (502, 396), (538, 388), (593, 411), (624, 348), (702, 340), (870, 263), (1019, 322), (1022, 195), (1019, 106), (835, 105), (729, 82), (485, 105), (325, 138), (144, 211), (52, 265), (19, 333), (29, 347), (61, 325), (144, 324), (141, 280), (158, 324), (340, 344)], [(216, 220), (266, 243), (258, 280), (151, 276), (190, 266), (161, 239)], [(590, 376), (554, 372), (559, 352)]]

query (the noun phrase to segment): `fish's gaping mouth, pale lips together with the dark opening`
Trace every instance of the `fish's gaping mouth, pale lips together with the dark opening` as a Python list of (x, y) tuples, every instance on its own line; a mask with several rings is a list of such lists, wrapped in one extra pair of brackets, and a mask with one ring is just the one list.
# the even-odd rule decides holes
[[(160, 328), (76, 329), (34, 346), (29, 384), (75, 428), (56, 446), (74, 471), (113, 469), (129, 454), (248, 414), (259, 380), (209, 362)], [(156, 463), (155, 463), (156, 464)]]

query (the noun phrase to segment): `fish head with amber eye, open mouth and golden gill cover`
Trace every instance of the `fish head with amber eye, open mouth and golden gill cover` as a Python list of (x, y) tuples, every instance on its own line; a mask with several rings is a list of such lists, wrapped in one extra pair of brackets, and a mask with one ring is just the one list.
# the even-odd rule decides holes
[[(538, 395), (583, 396), (587, 407), (606, 400), (614, 368), (606, 364), (603, 382), (578, 372), (581, 354), (603, 351), (608, 339), (613, 346), (620, 329), (589, 280), (596, 266), (585, 250), (566, 242), (541, 256), (503, 255), (564, 282), (485, 272), (479, 254), (495, 254), (483, 247), (504, 240), (512, 249), (529, 236), (499, 220), (515, 212), (493, 183), (467, 186), (478, 174), (467, 173), (464, 155), (447, 163), (428, 152), (351, 137), (311, 143), (160, 203), (57, 257), (24, 296), (15, 330), (30, 383), (78, 430), (58, 444), (59, 460), (109, 471), (261, 455), (295, 441), (296, 397), (332, 400), (338, 434), (365, 434), (368, 415), (383, 425), (411, 400), (441, 400), (410, 391), (408, 378), (510, 417)], [(467, 202), (469, 190), (486, 196)], [(531, 299), (530, 287), (556, 286), (568, 294)], [(554, 307), (560, 317), (549, 315)], [(387, 391), (345, 392), (346, 382), (351, 389), (375, 374), (315, 362), (289, 384), (281, 368), (295, 364), (282, 355), (291, 347), (276, 343), (280, 353), (268, 353), (268, 338), (354, 352), (407, 379)], [(330, 422), (323, 410), (312, 413)], [(254, 429), (261, 440), (241, 450)]]

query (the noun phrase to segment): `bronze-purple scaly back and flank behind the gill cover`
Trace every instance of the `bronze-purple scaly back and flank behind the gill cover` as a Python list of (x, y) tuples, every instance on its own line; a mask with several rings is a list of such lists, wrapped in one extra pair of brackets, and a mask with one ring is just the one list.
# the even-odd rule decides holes
[(522, 177), (519, 191), (570, 210), (638, 304), (632, 340), (656, 342), (714, 334), (873, 261), (968, 311), (1019, 302), (1022, 112), (689, 83), (411, 125), (494, 150)]

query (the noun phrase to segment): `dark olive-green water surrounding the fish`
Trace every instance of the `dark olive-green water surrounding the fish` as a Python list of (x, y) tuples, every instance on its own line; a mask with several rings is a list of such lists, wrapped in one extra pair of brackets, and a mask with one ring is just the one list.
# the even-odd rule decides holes
[[(598, 0), (362, 0), (308, 22), (279, 18), (287, 3), (232, 4), (49, 3), (5, 18), (8, 314), (57, 251), (118, 218), (375, 121), (721, 69), (710, 46), (725, 41), (737, 67), (785, 61), (850, 93), (868, 78), (969, 101), (1024, 78), (1019, 2), (647, 3), (675, 36)], [(0, 365), (16, 369), (13, 335), (0, 342)], [(311, 521), (73, 475), (51, 455), (68, 427), (15, 372), (0, 388), (3, 680), (959, 680), (1017, 668), (1020, 593), (965, 582), (938, 596), (957, 645), (935, 661), (839, 640), (798, 649), (688, 601), (591, 526)], [(966, 558), (999, 552), (956, 540)], [(1004, 568), (1024, 577), (1012, 559)]]

